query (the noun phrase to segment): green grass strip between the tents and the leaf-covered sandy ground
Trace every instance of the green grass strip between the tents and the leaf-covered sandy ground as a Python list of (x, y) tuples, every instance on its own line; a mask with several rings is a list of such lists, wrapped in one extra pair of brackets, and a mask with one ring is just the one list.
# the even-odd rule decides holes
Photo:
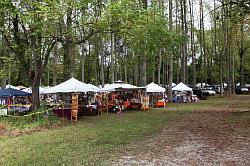
[(166, 109), (85, 116), (60, 128), (15, 138), (0, 136), (0, 165), (101, 165), (183, 114), (211, 108), (249, 109), (249, 99), (213, 97), (194, 104), (169, 104)]

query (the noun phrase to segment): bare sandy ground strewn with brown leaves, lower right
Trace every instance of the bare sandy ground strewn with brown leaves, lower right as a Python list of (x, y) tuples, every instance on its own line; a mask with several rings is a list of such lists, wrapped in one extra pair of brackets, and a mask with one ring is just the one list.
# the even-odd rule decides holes
[(250, 165), (249, 118), (237, 121), (249, 113), (194, 111), (131, 145), (109, 165)]

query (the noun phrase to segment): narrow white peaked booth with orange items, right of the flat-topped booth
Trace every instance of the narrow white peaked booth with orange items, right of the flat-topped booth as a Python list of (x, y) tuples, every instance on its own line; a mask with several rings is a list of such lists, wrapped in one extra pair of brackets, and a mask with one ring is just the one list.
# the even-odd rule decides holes
[(149, 95), (150, 106), (165, 107), (165, 88), (152, 82), (146, 86), (146, 90)]

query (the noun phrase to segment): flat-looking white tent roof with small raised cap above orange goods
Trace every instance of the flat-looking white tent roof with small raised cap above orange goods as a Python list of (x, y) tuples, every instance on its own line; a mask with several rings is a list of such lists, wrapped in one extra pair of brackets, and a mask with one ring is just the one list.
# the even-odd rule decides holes
[(116, 89), (140, 89), (141, 87), (137, 87), (134, 85), (130, 85), (127, 83), (113, 83), (113, 84), (106, 84), (102, 89), (101, 92), (111, 92), (115, 91)]

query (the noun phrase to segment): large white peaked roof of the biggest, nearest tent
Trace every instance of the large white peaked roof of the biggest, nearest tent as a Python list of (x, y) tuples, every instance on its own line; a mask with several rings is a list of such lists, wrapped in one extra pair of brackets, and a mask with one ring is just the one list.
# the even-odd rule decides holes
[(70, 92), (95, 92), (94, 85), (85, 84), (75, 78), (71, 78), (59, 85), (45, 90), (45, 93), (70, 93)]

